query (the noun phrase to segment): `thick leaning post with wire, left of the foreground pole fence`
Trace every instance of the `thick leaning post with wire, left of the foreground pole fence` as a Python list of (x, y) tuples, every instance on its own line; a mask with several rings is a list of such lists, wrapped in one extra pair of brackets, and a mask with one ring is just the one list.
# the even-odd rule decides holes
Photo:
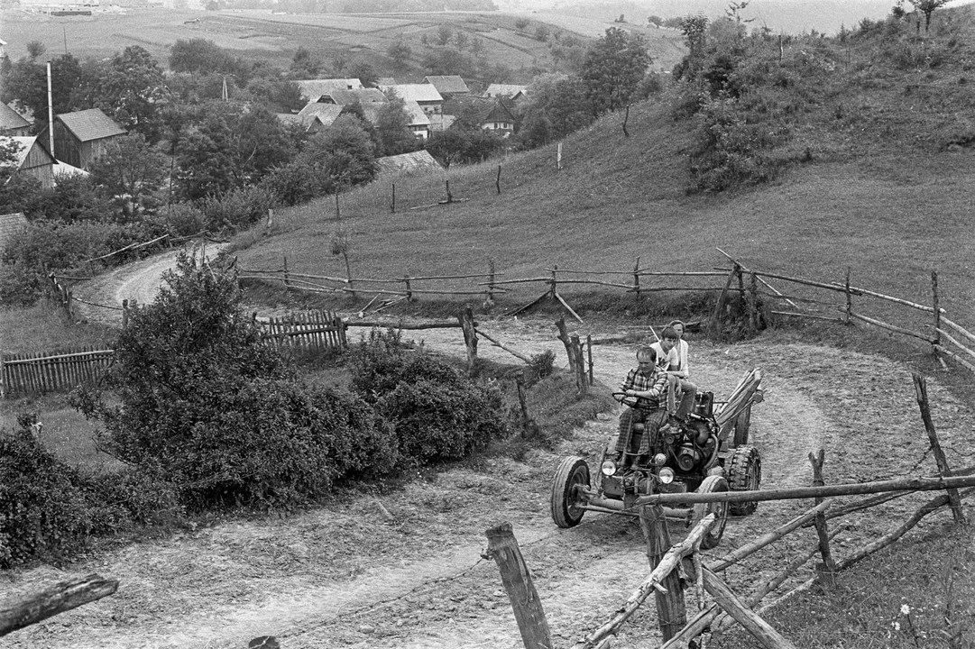
[(518, 548), (518, 541), (511, 523), (503, 522), (485, 531), (487, 536), (486, 558), (493, 558), (501, 573), (501, 583), (508, 592), (515, 621), (522, 633), (525, 649), (552, 649), (552, 633), (542, 609), (541, 599), (531, 581), (531, 573), (525, 557)]

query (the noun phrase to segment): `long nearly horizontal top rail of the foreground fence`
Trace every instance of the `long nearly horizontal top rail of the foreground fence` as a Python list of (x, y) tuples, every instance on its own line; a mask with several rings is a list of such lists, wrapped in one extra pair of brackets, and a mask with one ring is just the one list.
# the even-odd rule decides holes
[(767, 489), (761, 491), (725, 491), (717, 493), (658, 493), (641, 496), (637, 505), (671, 505), (673, 503), (744, 503), (749, 501), (800, 500), (816, 496), (851, 496), (885, 491), (937, 491), (953, 487), (975, 486), (975, 476), (952, 477), (902, 477), (874, 482), (851, 484), (830, 484), (821, 487), (793, 487), (789, 489)]

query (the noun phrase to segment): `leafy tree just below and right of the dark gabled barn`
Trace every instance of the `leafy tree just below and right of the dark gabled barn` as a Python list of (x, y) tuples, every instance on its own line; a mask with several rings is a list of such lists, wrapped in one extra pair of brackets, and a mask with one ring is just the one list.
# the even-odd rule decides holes
[(116, 138), (95, 161), (92, 182), (115, 203), (121, 220), (136, 220), (158, 207), (156, 192), (168, 172), (167, 162), (142, 134), (128, 134)]

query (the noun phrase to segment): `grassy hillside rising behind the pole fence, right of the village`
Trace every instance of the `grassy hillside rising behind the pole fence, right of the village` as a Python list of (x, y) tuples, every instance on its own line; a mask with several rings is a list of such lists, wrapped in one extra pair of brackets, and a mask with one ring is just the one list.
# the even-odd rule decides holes
[[(388, 181), (343, 195), (353, 275), (485, 272), (488, 258), (509, 277), (546, 275), (552, 264), (623, 271), (637, 256), (659, 270), (704, 270), (724, 264), (721, 247), (756, 268), (820, 280), (840, 281), (850, 266), (856, 286), (923, 302), (937, 269), (943, 305), (975, 324), (972, 13), (939, 17), (954, 26), (923, 46), (938, 55), (936, 67), (895, 65), (888, 51), (908, 46), (882, 33), (789, 45), (791, 85), (760, 102), (791, 120), (775, 155), (796, 162), (772, 182), (687, 194), (695, 123), (676, 120), (677, 99), (667, 95), (631, 110), (631, 137), (615, 114), (566, 138), (562, 172), (554, 146), (497, 161), (501, 195), (495, 162), (400, 178), (396, 214)], [(800, 76), (809, 66), (811, 81)], [(407, 209), (444, 198), (444, 176), (467, 202)], [(274, 236), (241, 237), (242, 265), (277, 268), (287, 254), (294, 271), (344, 274), (327, 251), (333, 213), (329, 200), (276, 212)], [(514, 290), (509, 301), (538, 292)]]

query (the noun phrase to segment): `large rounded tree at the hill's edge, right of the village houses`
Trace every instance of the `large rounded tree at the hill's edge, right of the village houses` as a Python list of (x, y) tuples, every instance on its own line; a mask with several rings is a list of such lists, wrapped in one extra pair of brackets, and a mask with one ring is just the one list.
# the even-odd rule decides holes
[(582, 64), (586, 96), (600, 112), (621, 108), (629, 103), (650, 62), (642, 34), (609, 27)]

